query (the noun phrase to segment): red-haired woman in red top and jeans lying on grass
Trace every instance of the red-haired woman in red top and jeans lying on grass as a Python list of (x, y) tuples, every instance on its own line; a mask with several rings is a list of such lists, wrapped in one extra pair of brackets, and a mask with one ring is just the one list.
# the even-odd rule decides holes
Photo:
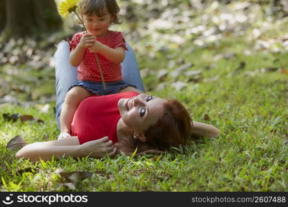
[[(135, 55), (126, 53), (122, 70), (124, 80), (144, 90)], [(68, 61), (68, 44), (60, 43), (55, 53), (57, 123), (68, 88), (77, 82), (77, 68)], [(59, 127), (59, 125), (58, 125)], [(219, 130), (209, 124), (192, 121), (189, 112), (177, 100), (165, 100), (136, 92), (122, 92), (84, 99), (71, 125), (73, 137), (28, 144), (17, 157), (37, 161), (59, 157), (104, 157), (117, 152), (130, 155), (160, 153), (179, 147), (193, 137), (215, 137)]]

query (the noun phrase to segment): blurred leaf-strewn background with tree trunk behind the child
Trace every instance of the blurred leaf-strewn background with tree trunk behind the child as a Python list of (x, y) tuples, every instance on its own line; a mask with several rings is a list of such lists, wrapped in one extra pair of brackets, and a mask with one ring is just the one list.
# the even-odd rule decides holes
[[(19, 102), (19, 97), (21, 101), (55, 99), (52, 84), (55, 44), (82, 30), (73, 15), (61, 20), (56, 9), (60, 1), (0, 0), (2, 103)], [(288, 1), (285, 0), (117, 2), (123, 23), (112, 29), (122, 31), (135, 50), (147, 90), (157, 88), (160, 83), (157, 79), (164, 77), (167, 69), (191, 68), (192, 63), (187, 59), (193, 60), (193, 53), (198, 49), (224, 51), (213, 57), (205, 57), (203, 52), (207, 63), (233, 57), (233, 48), (239, 47), (246, 55), (288, 50)], [(226, 47), (229, 50), (225, 52)], [(180, 68), (178, 73), (182, 71)], [(151, 78), (145, 79), (149, 75)], [(177, 72), (171, 81), (177, 81), (175, 77)], [(44, 96), (43, 92), (32, 91), (43, 81), (50, 83)], [(176, 83), (176, 86), (181, 89), (183, 84)]]

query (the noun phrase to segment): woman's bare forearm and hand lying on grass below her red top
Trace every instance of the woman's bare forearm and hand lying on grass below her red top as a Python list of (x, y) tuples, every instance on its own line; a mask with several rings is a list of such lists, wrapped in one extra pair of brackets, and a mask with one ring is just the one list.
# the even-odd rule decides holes
[[(69, 140), (70, 139), (70, 140)], [(77, 137), (67, 137), (54, 141), (44, 141), (28, 144), (21, 148), (16, 154), (16, 157), (30, 159), (30, 161), (50, 160), (52, 156), (55, 159), (60, 157), (104, 157), (115, 155), (116, 148), (113, 147), (112, 141), (108, 141), (108, 137), (88, 141), (79, 145)]]

